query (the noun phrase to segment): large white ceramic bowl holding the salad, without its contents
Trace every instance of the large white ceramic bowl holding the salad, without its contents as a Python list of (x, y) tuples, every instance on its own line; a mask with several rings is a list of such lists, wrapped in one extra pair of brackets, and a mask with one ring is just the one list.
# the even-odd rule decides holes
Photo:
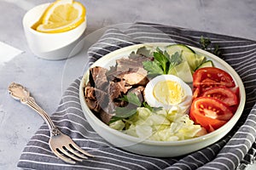
[[(157, 47), (166, 47), (170, 43), (154, 43)], [(152, 45), (152, 43), (150, 43)], [(110, 54), (105, 55), (102, 59), (98, 59), (94, 65), (103, 66), (108, 68), (110, 65), (115, 64), (115, 60), (122, 58), (124, 56), (128, 56), (131, 51), (136, 51), (137, 48), (143, 47), (144, 44), (133, 45), (126, 48), (121, 48), (119, 50), (113, 51)], [(212, 133), (207, 133), (201, 137), (195, 139), (186, 139), (181, 141), (172, 141), (172, 142), (162, 142), (162, 141), (152, 141), (145, 139), (138, 139), (136, 137), (132, 137), (128, 134), (119, 132), (114, 130), (111, 127), (108, 127), (105, 123), (103, 123), (100, 119), (98, 119), (86, 105), (84, 100), (84, 86), (88, 82), (89, 71), (84, 74), (82, 81), (79, 87), (79, 98), (81, 102), (82, 109), (84, 111), (84, 116), (90, 123), (90, 126), (102, 136), (103, 139), (106, 139), (109, 143), (115, 145), (116, 147), (122, 148), (123, 150), (128, 150), (133, 153), (137, 153), (143, 156), (158, 156), (158, 157), (172, 157), (172, 156), (182, 156), (193, 152), (195, 150), (200, 150), (210, 144), (217, 142), (219, 139), (223, 138), (227, 133), (230, 132), (231, 128), (235, 126), (236, 122), (241, 116), (245, 105), (245, 89), (243, 83), (241, 82), (241, 78), (237, 75), (236, 71), (228, 65), (224, 60), (219, 59), (213, 54), (210, 54), (204, 50), (199, 48), (193, 48), (196, 53), (203, 54), (207, 56), (207, 59), (212, 59), (214, 65), (218, 68), (223, 69), (224, 71), (228, 71), (231, 77), (234, 78), (236, 82), (236, 86), (240, 88), (240, 104), (236, 111), (236, 114), (230, 119), (229, 122), (224, 124), (223, 127), (218, 128)]]

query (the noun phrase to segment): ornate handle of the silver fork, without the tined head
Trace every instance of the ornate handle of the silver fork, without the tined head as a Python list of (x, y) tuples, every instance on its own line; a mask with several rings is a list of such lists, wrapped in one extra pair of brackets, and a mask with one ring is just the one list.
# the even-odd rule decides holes
[(49, 115), (35, 102), (35, 99), (30, 96), (29, 91), (25, 87), (18, 83), (12, 82), (9, 85), (9, 94), (13, 98), (19, 99), (21, 104), (28, 105), (34, 111), (37, 111), (38, 114), (43, 117), (44, 121), (48, 125), (51, 136), (56, 136), (61, 133), (60, 130), (55, 127), (55, 124), (54, 122), (52, 122)]

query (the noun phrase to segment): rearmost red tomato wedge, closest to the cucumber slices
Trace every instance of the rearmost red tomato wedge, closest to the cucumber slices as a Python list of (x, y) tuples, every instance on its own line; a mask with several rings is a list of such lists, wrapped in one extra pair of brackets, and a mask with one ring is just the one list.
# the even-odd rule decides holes
[(205, 67), (193, 74), (194, 87), (218, 87), (234, 88), (236, 86), (229, 73), (216, 67)]

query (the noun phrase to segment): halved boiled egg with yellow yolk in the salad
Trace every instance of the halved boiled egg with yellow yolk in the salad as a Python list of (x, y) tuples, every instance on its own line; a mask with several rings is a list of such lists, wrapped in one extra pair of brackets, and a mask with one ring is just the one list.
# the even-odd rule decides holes
[(186, 113), (192, 103), (192, 90), (179, 77), (160, 75), (148, 82), (144, 99), (152, 107), (163, 107), (166, 110), (175, 108)]

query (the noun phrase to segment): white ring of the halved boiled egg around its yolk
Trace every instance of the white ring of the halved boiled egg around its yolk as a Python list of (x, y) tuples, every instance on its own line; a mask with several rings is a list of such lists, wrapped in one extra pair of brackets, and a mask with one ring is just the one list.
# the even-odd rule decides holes
[[(180, 84), (181, 88), (183, 88), (183, 97), (181, 99), (181, 102), (177, 104), (165, 104), (161, 103), (158, 99), (155, 99), (154, 87), (158, 82), (162, 81), (172, 81)], [(144, 90), (144, 99), (151, 107), (163, 107), (166, 110), (176, 108), (179, 113), (187, 113), (192, 103), (192, 90), (189, 85), (183, 82), (183, 80), (179, 77), (173, 75), (160, 75), (158, 77), (154, 77), (148, 82)]]

